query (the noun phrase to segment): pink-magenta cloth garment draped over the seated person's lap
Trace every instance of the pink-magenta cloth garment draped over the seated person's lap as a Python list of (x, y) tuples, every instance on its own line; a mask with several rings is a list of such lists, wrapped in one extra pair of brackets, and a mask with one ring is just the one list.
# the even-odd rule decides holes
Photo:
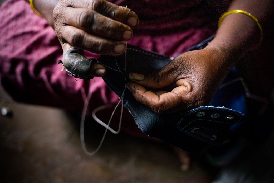
[[(128, 44), (176, 56), (212, 35), (217, 19), (204, 1), (115, 1), (134, 10), (140, 24)], [(81, 113), (87, 93), (89, 111), (116, 104), (117, 95), (101, 77), (84, 81), (61, 71), (62, 48), (52, 27), (24, 0), (7, 0), (0, 8), (0, 81), (17, 101), (61, 107)], [(98, 55), (85, 51), (85, 56)], [(131, 123), (131, 128), (136, 128)], [(127, 129), (127, 124), (123, 129)], [(134, 131), (134, 130), (133, 130)], [(138, 130), (137, 130), (138, 131)], [(138, 131), (139, 132), (139, 131)]]

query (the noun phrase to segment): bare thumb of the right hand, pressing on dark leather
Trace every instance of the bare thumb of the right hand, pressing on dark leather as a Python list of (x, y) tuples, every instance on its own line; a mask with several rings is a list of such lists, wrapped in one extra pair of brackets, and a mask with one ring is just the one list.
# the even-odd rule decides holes
[(144, 86), (145, 88), (156, 89), (165, 87), (175, 82), (178, 75), (179, 74), (176, 73), (176, 67), (174, 67), (170, 62), (166, 66), (158, 70), (154, 70), (151, 73), (130, 73), (129, 79), (132, 82)]

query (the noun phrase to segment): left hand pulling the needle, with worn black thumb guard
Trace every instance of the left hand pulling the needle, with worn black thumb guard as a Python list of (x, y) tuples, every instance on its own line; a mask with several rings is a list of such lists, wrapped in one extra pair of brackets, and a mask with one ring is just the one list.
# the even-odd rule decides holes
[[(138, 16), (126, 7), (105, 0), (60, 0), (53, 10), (55, 32), (63, 48), (63, 64), (68, 70), (88, 70), (89, 76), (103, 76), (105, 66), (92, 62), (90, 68), (76, 62), (90, 62), (82, 49), (104, 55), (120, 55), (122, 41), (132, 37)], [(94, 60), (93, 60), (94, 61)], [(88, 65), (88, 64), (87, 64)], [(71, 68), (70, 68), (71, 67)]]

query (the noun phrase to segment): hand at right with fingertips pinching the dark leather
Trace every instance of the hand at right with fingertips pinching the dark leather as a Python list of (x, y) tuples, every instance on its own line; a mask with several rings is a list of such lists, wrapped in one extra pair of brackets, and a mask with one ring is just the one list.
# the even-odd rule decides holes
[[(215, 48), (185, 52), (152, 73), (130, 73), (128, 89), (137, 101), (155, 113), (171, 113), (206, 104), (235, 63), (229, 54)], [(148, 91), (172, 84), (171, 92)]]

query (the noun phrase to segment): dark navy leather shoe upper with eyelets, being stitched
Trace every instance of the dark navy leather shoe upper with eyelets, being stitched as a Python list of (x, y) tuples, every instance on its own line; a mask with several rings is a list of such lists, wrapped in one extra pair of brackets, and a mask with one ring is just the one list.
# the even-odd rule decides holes
[[(214, 35), (190, 50), (203, 49)], [(107, 68), (103, 77), (106, 84), (121, 98), (128, 74), (145, 73), (161, 68), (171, 58), (127, 45), (127, 71), (125, 55), (100, 56), (98, 62)], [(159, 90), (171, 91), (175, 84)], [(208, 106), (169, 114), (156, 114), (138, 102), (129, 90), (124, 93), (124, 107), (145, 134), (169, 142), (177, 147), (202, 153), (212, 146), (223, 145), (241, 134), (244, 126), (245, 92), (242, 79), (233, 68)], [(215, 148), (212, 148), (215, 149)]]

